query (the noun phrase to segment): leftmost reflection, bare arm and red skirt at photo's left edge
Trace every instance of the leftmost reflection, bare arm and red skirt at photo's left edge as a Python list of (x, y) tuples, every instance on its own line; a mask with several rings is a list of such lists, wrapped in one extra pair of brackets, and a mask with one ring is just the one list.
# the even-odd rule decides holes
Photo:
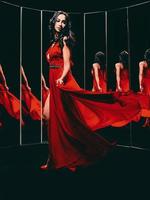
[(20, 101), (15, 97), (8, 88), (6, 77), (0, 64), (0, 105), (5, 108), (7, 113), (20, 120)]

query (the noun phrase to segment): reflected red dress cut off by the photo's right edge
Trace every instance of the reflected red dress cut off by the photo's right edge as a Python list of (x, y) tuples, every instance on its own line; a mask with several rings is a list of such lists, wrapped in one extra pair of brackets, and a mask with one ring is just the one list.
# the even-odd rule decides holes
[(143, 92), (138, 94), (142, 107), (142, 117), (150, 117), (150, 68), (144, 67), (142, 78)]

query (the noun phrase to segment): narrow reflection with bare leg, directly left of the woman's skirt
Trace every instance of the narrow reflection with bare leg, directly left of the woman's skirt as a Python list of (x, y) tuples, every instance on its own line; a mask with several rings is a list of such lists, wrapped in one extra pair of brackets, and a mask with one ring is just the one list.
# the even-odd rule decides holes
[(49, 119), (49, 113), (50, 113), (50, 90), (46, 85), (45, 78), (42, 74), (42, 114), (43, 119), (48, 120)]

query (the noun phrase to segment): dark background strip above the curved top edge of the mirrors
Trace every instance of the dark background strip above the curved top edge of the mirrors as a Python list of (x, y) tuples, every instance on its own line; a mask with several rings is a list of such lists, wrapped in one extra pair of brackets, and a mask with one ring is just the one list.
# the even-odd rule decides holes
[(93, 12), (109, 9), (127, 7), (138, 3), (143, 3), (143, 0), (91, 0), (91, 1), (68, 1), (68, 0), (7, 0), (7, 2), (36, 8), (40, 10), (65, 10), (67, 12)]

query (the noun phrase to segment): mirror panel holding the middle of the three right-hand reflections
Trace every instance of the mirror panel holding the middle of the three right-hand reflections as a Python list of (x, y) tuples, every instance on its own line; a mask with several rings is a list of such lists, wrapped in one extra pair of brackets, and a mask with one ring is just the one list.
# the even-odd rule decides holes
[[(127, 92), (130, 88), (124, 87), (124, 85), (130, 85), (129, 76), (130, 67), (128, 65), (128, 54), (126, 64), (124, 61), (120, 61), (120, 53), (125, 51), (128, 53), (128, 27), (127, 27), (127, 9), (118, 9), (109, 11), (107, 14), (107, 74), (108, 74), (108, 90), (118, 91), (117, 84), (117, 69), (119, 65), (119, 85), (122, 91), (122, 98), (124, 92)], [(122, 66), (122, 69), (120, 68)], [(123, 82), (123, 80), (125, 80)], [(131, 144), (131, 125), (128, 124), (123, 127), (115, 128), (110, 127), (110, 133), (120, 145), (130, 146)]]

